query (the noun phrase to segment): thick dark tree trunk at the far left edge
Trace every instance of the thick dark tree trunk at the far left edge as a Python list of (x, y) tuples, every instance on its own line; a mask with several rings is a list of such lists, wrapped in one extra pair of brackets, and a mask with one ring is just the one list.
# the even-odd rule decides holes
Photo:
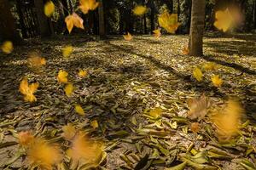
[(16, 30), (15, 19), (11, 14), (8, 0), (0, 0), (0, 32), (3, 41), (9, 40), (16, 44), (22, 42), (22, 39)]

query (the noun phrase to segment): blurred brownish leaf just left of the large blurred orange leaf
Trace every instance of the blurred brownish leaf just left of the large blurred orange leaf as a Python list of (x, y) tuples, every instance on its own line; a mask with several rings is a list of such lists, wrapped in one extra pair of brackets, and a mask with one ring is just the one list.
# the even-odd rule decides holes
[(194, 98), (188, 100), (189, 112), (188, 116), (191, 119), (202, 119), (207, 115), (207, 108), (210, 106), (205, 94), (202, 94), (200, 98)]

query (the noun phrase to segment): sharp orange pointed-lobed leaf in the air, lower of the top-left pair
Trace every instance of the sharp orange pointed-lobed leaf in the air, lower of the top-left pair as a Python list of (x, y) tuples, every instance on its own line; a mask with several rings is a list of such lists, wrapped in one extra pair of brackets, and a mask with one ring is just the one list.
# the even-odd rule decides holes
[(67, 24), (67, 30), (69, 33), (73, 30), (73, 26), (84, 29), (84, 20), (80, 18), (79, 15), (76, 13), (68, 15), (65, 18), (65, 22)]

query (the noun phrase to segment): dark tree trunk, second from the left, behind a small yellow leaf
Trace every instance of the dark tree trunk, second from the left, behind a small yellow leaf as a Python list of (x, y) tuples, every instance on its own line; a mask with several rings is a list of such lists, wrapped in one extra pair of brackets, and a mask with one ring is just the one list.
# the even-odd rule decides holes
[(44, 14), (44, 1), (34, 0), (37, 18), (38, 18), (38, 31), (41, 37), (49, 37), (51, 35), (51, 29), (49, 26), (49, 19)]

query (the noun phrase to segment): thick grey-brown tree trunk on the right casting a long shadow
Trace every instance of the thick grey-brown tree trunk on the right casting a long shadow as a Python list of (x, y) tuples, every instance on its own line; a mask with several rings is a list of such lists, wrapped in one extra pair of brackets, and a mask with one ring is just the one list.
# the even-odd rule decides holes
[(189, 33), (189, 55), (203, 55), (203, 33), (206, 0), (192, 0), (191, 25)]

